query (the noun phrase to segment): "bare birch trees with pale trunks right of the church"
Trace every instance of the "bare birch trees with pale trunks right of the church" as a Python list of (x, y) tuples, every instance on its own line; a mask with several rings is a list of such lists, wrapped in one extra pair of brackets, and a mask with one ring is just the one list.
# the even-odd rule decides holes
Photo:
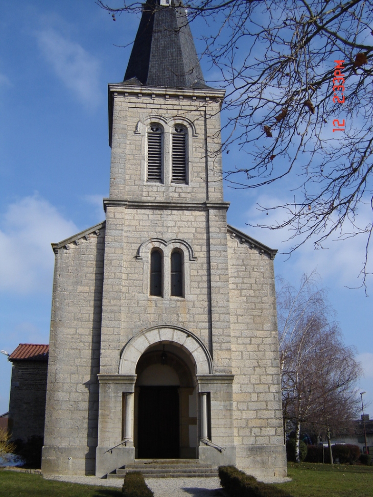
[(325, 433), (330, 451), (331, 434), (351, 426), (358, 407), (354, 386), (361, 368), (354, 348), (342, 342), (315, 273), (302, 278), (299, 290), (282, 281), (277, 313), (284, 427), (290, 420), (295, 429), (299, 462), (301, 425)]

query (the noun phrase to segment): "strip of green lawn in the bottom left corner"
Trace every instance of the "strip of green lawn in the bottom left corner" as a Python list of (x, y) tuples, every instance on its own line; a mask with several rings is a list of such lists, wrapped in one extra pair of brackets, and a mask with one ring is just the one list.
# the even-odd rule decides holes
[(123, 497), (121, 489), (44, 480), (41, 475), (0, 470), (1, 497)]

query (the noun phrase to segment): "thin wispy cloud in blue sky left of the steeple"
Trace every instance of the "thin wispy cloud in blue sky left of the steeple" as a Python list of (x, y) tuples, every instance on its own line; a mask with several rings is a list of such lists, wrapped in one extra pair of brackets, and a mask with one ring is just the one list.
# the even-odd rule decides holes
[(64, 85), (83, 104), (95, 107), (100, 98), (99, 61), (52, 28), (36, 32), (36, 37), (41, 53)]

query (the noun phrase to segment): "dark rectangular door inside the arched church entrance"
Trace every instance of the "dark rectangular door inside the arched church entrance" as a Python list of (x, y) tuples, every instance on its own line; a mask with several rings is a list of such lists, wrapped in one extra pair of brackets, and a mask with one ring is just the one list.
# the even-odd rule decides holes
[(140, 387), (138, 396), (139, 459), (179, 457), (178, 387)]

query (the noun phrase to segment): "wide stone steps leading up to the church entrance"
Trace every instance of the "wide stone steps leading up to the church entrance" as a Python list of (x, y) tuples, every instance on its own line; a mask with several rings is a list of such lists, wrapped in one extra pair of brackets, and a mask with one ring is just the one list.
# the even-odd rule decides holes
[(191, 459), (138, 459), (108, 473), (107, 478), (124, 478), (128, 471), (139, 471), (144, 478), (216, 478), (218, 468)]

